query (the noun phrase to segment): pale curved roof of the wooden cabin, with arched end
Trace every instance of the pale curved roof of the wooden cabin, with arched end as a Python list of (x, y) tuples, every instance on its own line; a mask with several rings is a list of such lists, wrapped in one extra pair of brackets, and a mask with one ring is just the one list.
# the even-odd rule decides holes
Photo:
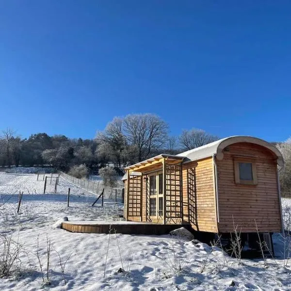
[(178, 154), (177, 156), (186, 157), (188, 161), (197, 161), (215, 155), (218, 160), (222, 160), (223, 149), (226, 146), (235, 143), (252, 143), (259, 146), (264, 146), (268, 148), (271, 152), (273, 152), (273, 154), (277, 157), (277, 164), (279, 166), (284, 165), (282, 154), (275, 146), (262, 139), (242, 135), (226, 137), (205, 146), (199, 146), (194, 149), (187, 150), (183, 153)]

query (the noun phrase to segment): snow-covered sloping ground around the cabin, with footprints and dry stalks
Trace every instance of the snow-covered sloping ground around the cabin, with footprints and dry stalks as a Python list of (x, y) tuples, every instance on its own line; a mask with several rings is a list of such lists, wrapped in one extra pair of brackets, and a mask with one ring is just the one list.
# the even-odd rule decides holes
[[(59, 186), (59, 195), (65, 194), (68, 187), (76, 195), (87, 195), (64, 179), (60, 179)], [(64, 216), (69, 221), (120, 220), (118, 214), (122, 208), (118, 205), (102, 208), (100, 204), (92, 207), (83, 200), (72, 202), (68, 208), (61, 199), (37, 199), (42, 190), (43, 181), (37, 181), (36, 175), (0, 174), (0, 194), (17, 197), (23, 191), (35, 197), (24, 200), (19, 214), (17, 200), (9, 200), (0, 208), (2, 242), (3, 235), (12, 236), (23, 246), (16, 260), (18, 272), (0, 278), (0, 290), (291, 290), (291, 263), (283, 259), (284, 245), (279, 234), (273, 236), (275, 259), (266, 259), (266, 263), (263, 259), (242, 259), (238, 264), (235, 258), (223, 255), (218, 247), (212, 249), (207, 244), (170, 235), (122, 235), (114, 231), (111, 235), (70, 233), (58, 227)], [(291, 200), (283, 199), (282, 204), (291, 206)], [(55, 251), (50, 254), (50, 285), (43, 284), (36, 256), (37, 238), (46, 278), (47, 236), (63, 265), (69, 257), (64, 271), (66, 285)], [(0, 250), (1, 258), (3, 245)], [(118, 273), (120, 268), (125, 272)]]

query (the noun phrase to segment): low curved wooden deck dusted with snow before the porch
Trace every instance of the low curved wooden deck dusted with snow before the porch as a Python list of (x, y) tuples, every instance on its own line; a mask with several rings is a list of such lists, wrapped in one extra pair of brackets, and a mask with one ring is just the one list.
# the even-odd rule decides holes
[(71, 232), (109, 233), (110, 228), (116, 233), (123, 234), (168, 234), (171, 230), (190, 225), (162, 225), (130, 221), (65, 221), (63, 228)]

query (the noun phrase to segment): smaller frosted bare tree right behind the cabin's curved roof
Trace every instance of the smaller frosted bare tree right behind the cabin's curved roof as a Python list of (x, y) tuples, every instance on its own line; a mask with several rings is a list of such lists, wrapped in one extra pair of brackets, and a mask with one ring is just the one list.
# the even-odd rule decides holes
[(183, 130), (179, 136), (180, 145), (185, 150), (204, 146), (218, 139), (217, 136), (211, 135), (202, 129)]

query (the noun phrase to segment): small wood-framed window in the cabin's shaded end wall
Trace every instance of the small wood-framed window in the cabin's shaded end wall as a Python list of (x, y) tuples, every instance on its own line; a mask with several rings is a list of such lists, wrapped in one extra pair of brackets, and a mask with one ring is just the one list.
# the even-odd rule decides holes
[(255, 160), (243, 158), (235, 159), (234, 176), (236, 184), (257, 185)]

